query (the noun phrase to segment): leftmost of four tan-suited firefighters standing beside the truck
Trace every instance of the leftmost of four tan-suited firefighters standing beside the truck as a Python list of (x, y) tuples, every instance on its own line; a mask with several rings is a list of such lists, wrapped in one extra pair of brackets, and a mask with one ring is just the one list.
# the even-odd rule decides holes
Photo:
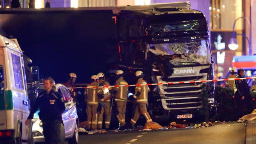
[(87, 119), (88, 119), (88, 130), (95, 130), (97, 129), (97, 108), (99, 105), (99, 101), (103, 101), (102, 90), (100, 88), (95, 88), (98, 85), (97, 83), (97, 75), (91, 76), (92, 82), (90, 86), (87, 86), (85, 91), (86, 101), (87, 101)]

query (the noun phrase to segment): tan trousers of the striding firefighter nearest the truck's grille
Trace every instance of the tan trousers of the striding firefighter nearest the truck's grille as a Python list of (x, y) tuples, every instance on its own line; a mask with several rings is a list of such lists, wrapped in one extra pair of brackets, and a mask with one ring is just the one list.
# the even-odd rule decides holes
[(147, 122), (152, 122), (152, 119), (149, 115), (149, 113), (147, 112), (147, 107), (145, 103), (142, 102), (138, 102), (136, 103), (135, 106), (135, 111), (134, 111), (134, 116), (131, 119), (131, 124), (132, 126), (134, 126), (138, 120), (138, 118), (141, 116), (141, 114), (143, 114), (143, 116), (146, 118)]

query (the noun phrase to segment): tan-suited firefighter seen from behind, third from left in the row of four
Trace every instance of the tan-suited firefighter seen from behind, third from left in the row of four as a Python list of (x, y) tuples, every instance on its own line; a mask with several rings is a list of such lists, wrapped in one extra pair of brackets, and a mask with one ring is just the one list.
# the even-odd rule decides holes
[[(116, 71), (117, 80), (115, 81), (115, 85), (128, 85), (128, 83), (124, 80), (124, 72), (122, 70)], [(114, 87), (113, 95), (115, 97), (115, 102), (118, 110), (118, 114), (116, 117), (120, 123), (119, 130), (125, 130), (125, 112), (126, 112), (126, 102), (127, 102), (127, 92), (128, 87)]]

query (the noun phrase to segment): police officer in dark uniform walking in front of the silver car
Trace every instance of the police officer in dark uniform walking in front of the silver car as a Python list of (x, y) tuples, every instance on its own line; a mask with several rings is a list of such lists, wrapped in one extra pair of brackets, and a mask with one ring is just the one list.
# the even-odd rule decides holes
[(54, 91), (54, 81), (51, 77), (44, 81), (45, 91), (40, 93), (34, 107), (31, 109), (26, 125), (33, 119), (34, 113), (40, 110), (39, 117), (43, 123), (43, 134), (48, 144), (61, 143), (61, 115), (65, 110), (63, 97)]

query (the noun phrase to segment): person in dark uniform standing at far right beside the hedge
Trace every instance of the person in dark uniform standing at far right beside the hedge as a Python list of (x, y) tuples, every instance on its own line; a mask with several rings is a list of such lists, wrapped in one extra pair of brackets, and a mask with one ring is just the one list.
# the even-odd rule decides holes
[[(244, 76), (244, 70), (240, 68), (238, 70), (238, 75), (236, 78), (243, 78)], [(235, 85), (237, 87), (237, 92), (235, 93), (235, 97), (238, 103), (238, 111), (237, 114), (239, 118), (243, 116), (243, 109), (246, 106), (248, 109), (248, 112), (253, 111), (253, 104), (252, 104), (252, 98), (250, 96), (250, 90), (248, 83), (246, 80), (236, 80)]]

